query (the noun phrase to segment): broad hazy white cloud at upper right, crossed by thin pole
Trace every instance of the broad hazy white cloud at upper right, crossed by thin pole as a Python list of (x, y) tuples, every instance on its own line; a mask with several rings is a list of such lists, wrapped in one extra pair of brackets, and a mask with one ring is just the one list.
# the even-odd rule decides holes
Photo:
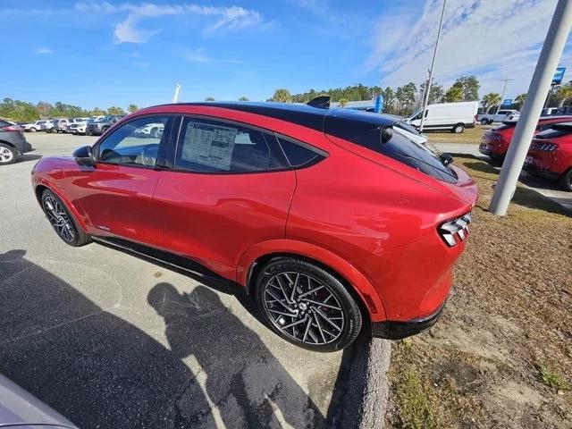
[[(382, 85), (420, 83), (431, 65), (442, 0), (427, 0), (421, 16), (382, 18), (366, 66), (382, 73)], [(481, 80), (481, 94), (525, 92), (540, 55), (556, 0), (449, 0), (435, 81), (449, 86), (462, 74)]]

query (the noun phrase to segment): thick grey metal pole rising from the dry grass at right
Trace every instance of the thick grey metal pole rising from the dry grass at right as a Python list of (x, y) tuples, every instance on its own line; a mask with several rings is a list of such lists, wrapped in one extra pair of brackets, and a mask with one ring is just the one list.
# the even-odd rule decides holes
[(536, 63), (533, 80), (528, 88), (525, 105), (518, 118), (514, 137), (510, 142), (509, 151), (502, 164), (501, 175), (492, 195), (489, 211), (493, 214), (504, 215), (509, 208), (510, 199), (517, 189), (520, 170), (525, 163), (526, 153), (534, 135), (548, 88), (551, 85), (554, 71), (558, 66), (564, 50), (568, 33), (572, 27), (572, 2), (559, 0), (552, 16), (551, 26), (544, 40), (543, 50)]

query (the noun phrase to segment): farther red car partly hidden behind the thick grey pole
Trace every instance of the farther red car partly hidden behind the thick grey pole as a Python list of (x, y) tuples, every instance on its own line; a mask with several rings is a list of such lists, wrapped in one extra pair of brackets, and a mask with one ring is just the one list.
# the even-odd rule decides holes
[[(543, 116), (539, 119), (534, 133), (550, 128), (552, 123), (572, 121), (572, 116)], [(492, 160), (502, 162), (509, 150), (510, 140), (517, 127), (517, 122), (502, 122), (502, 125), (492, 130), (485, 130), (479, 152), (490, 156)]]

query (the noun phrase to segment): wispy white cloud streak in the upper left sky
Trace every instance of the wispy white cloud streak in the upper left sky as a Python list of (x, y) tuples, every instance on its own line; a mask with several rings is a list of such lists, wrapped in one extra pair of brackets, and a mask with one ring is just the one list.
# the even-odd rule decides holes
[(78, 3), (75, 8), (80, 13), (127, 13), (126, 18), (115, 26), (115, 43), (144, 43), (161, 29), (141, 29), (140, 22), (148, 18), (168, 15), (198, 15), (210, 17), (211, 22), (204, 29), (206, 34), (214, 30), (241, 29), (261, 24), (260, 13), (240, 6), (214, 7), (199, 4), (110, 4)]

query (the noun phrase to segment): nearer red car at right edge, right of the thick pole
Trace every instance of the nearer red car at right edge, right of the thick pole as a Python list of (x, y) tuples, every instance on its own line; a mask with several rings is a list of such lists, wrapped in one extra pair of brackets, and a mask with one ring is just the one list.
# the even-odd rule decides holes
[(572, 122), (552, 124), (533, 139), (524, 170), (558, 181), (560, 188), (572, 191)]

